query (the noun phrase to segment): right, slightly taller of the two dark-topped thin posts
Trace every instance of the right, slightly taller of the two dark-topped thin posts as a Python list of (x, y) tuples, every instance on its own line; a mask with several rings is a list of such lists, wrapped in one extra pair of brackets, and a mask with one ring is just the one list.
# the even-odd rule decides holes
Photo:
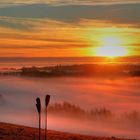
[(45, 140), (47, 140), (47, 107), (50, 102), (50, 95), (46, 95), (45, 98)]

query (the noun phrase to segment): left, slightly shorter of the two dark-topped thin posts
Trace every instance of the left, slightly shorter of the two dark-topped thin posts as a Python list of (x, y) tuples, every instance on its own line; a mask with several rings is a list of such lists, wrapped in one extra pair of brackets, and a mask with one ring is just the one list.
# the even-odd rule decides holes
[(39, 128), (38, 128), (38, 140), (41, 140), (41, 102), (40, 98), (36, 98), (36, 108), (39, 114)]

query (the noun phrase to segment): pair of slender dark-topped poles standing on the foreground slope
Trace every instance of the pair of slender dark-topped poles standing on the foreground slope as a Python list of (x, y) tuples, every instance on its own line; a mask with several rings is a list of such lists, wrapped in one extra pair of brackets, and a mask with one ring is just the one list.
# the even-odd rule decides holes
[[(47, 140), (47, 107), (50, 102), (50, 95), (45, 97), (45, 140)], [(39, 129), (38, 129), (38, 140), (41, 140), (41, 101), (40, 98), (36, 98), (36, 108), (39, 114)]]

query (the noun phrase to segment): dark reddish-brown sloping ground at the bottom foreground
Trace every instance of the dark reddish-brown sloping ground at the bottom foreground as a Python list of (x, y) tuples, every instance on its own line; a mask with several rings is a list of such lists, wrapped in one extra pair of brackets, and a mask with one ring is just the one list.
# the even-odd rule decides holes
[[(0, 140), (38, 140), (38, 129), (13, 124), (0, 123)], [(41, 140), (44, 140), (44, 130), (42, 130)], [(49, 130), (47, 140), (128, 140), (128, 139), (115, 137), (106, 138), (97, 136), (84, 136)]]

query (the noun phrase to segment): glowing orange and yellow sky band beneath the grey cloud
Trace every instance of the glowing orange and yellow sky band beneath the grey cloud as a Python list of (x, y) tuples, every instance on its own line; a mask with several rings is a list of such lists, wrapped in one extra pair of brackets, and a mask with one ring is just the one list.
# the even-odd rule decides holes
[(110, 17), (108, 20), (76, 17), (77, 21), (68, 21), (71, 17), (67, 17), (65, 21), (8, 14), (0, 16), (1, 57), (81, 57), (109, 53), (139, 56), (140, 53), (139, 24), (127, 19), (121, 23), (120, 19)]

